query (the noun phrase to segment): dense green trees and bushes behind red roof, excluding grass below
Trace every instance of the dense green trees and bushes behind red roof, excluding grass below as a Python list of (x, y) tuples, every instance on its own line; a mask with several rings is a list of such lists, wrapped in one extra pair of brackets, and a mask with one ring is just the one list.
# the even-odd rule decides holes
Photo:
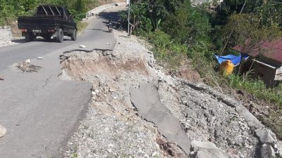
[[(130, 23), (133, 33), (149, 38), (163, 58), (178, 56), (176, 53), (185, 48), (188, 58), (210, 60), (225, 46), (240, 45), (250, 52), (262, 41), (281, 37), (281, 0), (212, 4), (216, 11), (211, 11), (210, 4), (191, 6), (189, 0), (135, 0)], [(122, 15), (126, 21), (127, 14)]]

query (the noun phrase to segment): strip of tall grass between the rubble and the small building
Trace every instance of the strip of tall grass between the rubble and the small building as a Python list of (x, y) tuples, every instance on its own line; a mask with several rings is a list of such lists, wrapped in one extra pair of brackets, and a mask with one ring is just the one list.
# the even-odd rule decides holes
[(192, 66), (195, 67), (204, 82), (209, 86), (242, 89), (247, 93), (252, 93), (259, 99), (282, 107), (282, 84), (274, 88), (266, 88), (263, 81), (251, 79), (250, 73), (245, 75), (231, 74), (224, 77), (214, 70), (217, 63), (211, 58), (213, 52), (203, 50), (206, 46), (202, 46), (202, 44), (193, 46), (190, 49), (188, 46), (171, 41), (171, 37), (162, 31), (149, 32), (143, 37), (154, 45), (152, 51), (155, 57), (166, 68), (179, 67), (183, 65), (185, 59), (190, 58)]

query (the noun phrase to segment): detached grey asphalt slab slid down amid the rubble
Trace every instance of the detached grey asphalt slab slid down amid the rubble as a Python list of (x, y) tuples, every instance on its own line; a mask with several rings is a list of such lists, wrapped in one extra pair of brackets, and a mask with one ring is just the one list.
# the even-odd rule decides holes
[(153, 122), (162, 135), (176, 142), (189, 155), (191, 140), (179, 119), (174, 117), (165, 105), (162, 105), (154, 84), (140, 84), (139, 88), (131, 88), (130, 100), (142, 117)]

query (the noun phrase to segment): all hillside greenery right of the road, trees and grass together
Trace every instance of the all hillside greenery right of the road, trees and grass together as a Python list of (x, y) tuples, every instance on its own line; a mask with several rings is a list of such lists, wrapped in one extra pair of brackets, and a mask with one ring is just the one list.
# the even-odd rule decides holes
[[(126, 12), (121, 16), (127, 18)], [(195, 7), (188, 0), (135, 0), (130, 19), (133, 34), (154, 45), (154, 55), (168, 70), (183, 67), (185, 60), (190, 60), (210, 86), (240, 89), (274, 103), (274, 114), (265, 123), (282, 139), (282, 122), (277, 121), (282, 114), (282, 85), (267, 88), (262, 81), (250, 77), (252, 72), (238, 74), (235, 70), (224, 76), (216, 70), (214, 58), (214, 54), (238, 54), (231, 50), (237, 45), (250, 53), (259, 41), (281, 37), (280, 0), (225, 0), (223, 5), (214, 1)]]

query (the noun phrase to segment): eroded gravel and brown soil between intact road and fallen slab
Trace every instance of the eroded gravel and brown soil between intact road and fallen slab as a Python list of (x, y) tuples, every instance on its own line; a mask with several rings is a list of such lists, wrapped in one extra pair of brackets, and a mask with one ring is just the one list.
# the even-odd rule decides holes
[[(66, 157), (185, 157), (153, 124), (138, 117), (131, 105), (130, 87), (150, 78), (144, 59), (112, 51), (75, 51), (61, 60), (61, 79), (93, 84), (90, 111), (70, 141)], [(166, 149), (161, 150), (157, 142)]]

